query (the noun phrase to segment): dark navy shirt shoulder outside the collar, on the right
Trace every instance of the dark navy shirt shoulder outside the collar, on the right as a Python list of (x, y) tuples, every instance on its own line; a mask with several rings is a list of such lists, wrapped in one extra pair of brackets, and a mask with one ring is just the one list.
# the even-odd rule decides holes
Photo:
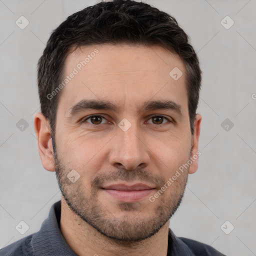
[(225, 256), (210, 245), (185, 237), (178, 237), (195, 254), (201, 256)]

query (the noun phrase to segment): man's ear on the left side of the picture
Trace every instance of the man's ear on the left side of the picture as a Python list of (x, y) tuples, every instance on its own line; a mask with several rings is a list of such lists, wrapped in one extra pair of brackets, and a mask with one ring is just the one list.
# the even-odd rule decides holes
[(55, 171), (52, 141), (50, 137), (49, 122), (42, 113), (34, 115), (34, 131), (37, 138), (37, 146), (41, 163), (44, 169)]

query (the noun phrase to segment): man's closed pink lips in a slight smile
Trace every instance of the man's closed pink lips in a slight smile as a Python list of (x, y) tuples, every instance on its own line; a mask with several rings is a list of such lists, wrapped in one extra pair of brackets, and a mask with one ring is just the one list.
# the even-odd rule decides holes
[(136, 183), (133, 185), (118, 183), (101, 187), (101, 189), (111, 197), (122, 202), (139, 201), (156, 190), (155, 187), (144, 183)]

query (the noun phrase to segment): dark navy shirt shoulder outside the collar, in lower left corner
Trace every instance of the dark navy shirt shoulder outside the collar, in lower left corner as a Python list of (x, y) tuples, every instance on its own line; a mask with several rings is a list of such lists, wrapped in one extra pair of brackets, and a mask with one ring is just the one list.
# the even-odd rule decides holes
[(22, 239), (19, 239), (0, 249), (1, 256), (30, 256), (32, 255), (31, 239), (33, 234), (30, 234)]

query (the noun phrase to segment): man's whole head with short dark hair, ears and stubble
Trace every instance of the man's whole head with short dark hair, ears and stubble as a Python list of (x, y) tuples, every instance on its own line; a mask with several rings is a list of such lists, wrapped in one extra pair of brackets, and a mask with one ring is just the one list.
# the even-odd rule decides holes
[[(37, 78), (41, 161), (72, 212), (116, 241), (155, 234), (197, 169), (201, 71), (175, 18), (130, 0), (73, 13), (51, 33)], [(107, 189), (116, 183), (151, 189), (129, 199)]]

